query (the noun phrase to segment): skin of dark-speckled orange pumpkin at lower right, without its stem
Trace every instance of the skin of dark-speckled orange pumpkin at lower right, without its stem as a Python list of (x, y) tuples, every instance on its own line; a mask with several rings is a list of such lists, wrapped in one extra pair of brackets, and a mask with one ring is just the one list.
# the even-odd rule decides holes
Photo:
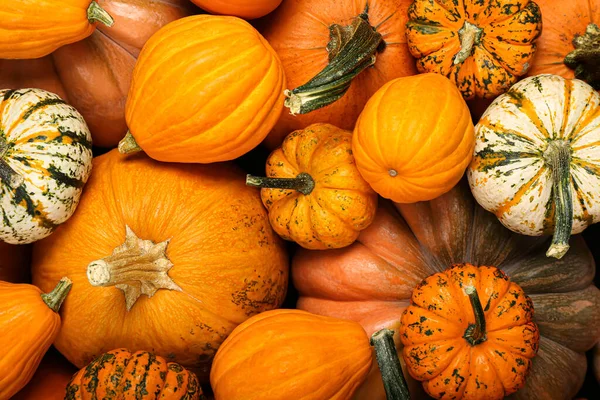
[[(475, 323), (465, 293), (474, 287), (485, 313), (485, 337), (465, 338)], [(402, 313), (400, 340), (411, 376), (433, 398), (502, 399), (525, 384), (539, 343), (533, 303), (495, 267), (457, 264), (427, 277)]]

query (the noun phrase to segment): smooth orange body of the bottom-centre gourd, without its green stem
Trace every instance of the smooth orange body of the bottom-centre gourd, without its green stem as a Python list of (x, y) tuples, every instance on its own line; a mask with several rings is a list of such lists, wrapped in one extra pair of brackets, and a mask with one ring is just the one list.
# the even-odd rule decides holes
[(223, 342), (210, 383), (217, 400), (346, 400), (369, 372), (371, 354), (369, 338), (355, 322), (272, 310)]

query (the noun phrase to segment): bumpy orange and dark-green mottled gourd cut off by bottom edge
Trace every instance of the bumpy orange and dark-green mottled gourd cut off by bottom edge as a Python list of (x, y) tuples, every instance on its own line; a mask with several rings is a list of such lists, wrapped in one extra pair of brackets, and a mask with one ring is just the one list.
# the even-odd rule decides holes
[(116, 349), (100, 355), (69, 382), (65, 400), (198, 400), (193, 372), (146, 351)]

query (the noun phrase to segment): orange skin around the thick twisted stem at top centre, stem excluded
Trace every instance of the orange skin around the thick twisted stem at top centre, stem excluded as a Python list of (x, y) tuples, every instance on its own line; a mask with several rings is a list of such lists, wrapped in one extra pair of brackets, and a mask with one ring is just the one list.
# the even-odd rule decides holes
[(417, 73), (404, 34), (410, 0), (284, 0), (266, 18), (261, 32), (281, 59), (287, 88), (303, 85), (328, 64), (330, 27), (348, 25), (365, 10), (367, 3), (369, 23), (387, 43), (377, 53), (375, 64), (356, 76), (346, 94), (335, 103), (303, 115), (291, 115), (284, 110), (265, 140), (268, 148), (275, 149), (290, 132), (317, 122), (352, 130), (377, 89), (391, 79)]

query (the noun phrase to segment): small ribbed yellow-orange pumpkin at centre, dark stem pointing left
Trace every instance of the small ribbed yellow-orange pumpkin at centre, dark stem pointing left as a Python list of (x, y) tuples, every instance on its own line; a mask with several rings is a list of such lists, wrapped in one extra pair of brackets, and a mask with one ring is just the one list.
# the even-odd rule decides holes
[(248, 176), (262, 188), (271, 226), (307, 249), (340, 248), (356, 240), (375, 216), (377, 194), (360, 176), (352, 132), (313, 124), (290, 133), (267, 160), (267, 178)]

